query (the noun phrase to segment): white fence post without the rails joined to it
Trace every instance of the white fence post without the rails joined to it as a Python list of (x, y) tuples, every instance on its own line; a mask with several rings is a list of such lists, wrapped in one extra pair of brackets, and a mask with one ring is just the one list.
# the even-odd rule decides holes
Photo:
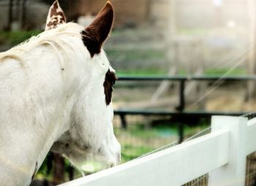
[(211, 131), (230, 130), (230, 145), (227, 165), (209, 173), (209, 186), (245, 185), (246, 127), (247, 118), (245, 117), (212, 117)]

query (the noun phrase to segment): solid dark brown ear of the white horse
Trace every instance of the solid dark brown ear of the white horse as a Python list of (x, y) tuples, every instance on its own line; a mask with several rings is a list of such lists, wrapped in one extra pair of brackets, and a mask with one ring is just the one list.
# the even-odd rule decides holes
[(108, 38), (113, 27), (114, 10), (110, 1), (100, 10), (94, 21), (83, 32), (83, 43), (91, 58), (100, 53), (102, 44)]

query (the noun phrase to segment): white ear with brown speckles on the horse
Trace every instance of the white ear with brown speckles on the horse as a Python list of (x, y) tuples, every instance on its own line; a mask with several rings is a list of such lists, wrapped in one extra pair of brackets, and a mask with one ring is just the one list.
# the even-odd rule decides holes
[(59, 1), (56, 0), (49, 9), (45, 31), (56, 28), (56, 26), (61, 23), (66, 23), (66, 17), (63, 10), (59, 6)]

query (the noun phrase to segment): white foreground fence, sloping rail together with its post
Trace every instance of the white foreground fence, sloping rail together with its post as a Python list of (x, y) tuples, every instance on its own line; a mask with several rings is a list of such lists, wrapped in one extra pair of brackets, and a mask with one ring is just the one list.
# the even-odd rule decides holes
[(180, 186), (209, 173), (210, 186), (245, 184), (256, 120), (213, 117), (211, 133), (61, 186)]

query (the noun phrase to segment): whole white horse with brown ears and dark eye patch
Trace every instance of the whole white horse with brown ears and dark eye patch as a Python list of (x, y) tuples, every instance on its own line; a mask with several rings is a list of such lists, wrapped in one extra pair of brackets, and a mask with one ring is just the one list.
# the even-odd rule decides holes
[(55, 1), (42, 34), (0, 53), (0, 185), (29, 185), (50, 149), (79, 169), (119, 162), (116, 75), (102, 50), (112, 26), (110, 2), (83, 28)]

